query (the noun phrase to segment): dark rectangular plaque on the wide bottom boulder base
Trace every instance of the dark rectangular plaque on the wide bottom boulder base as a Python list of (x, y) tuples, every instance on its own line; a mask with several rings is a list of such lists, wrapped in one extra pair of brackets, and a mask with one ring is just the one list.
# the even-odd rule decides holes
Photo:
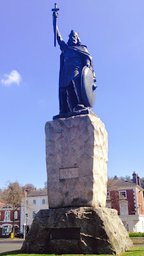
[(51, 240), (79, 240), (81, 228), (52, 228)]

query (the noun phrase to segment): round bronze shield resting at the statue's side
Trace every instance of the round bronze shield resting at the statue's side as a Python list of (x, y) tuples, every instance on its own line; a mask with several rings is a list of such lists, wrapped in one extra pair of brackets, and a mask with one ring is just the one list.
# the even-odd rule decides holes
[(84, 66), (81, 74), (81, 94), (84, 106), (93, 107), (96, 98), (96, 84), (93, 70)]

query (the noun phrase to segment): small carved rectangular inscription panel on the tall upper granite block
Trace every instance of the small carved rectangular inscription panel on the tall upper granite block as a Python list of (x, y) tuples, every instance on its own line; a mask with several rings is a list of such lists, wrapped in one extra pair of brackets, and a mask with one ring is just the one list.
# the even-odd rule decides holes
[(60, 173), (59, 173), (60, 180), (73, 179), (78, 177), (79, 177), (79, 168), (77, 167), (60, 169)]

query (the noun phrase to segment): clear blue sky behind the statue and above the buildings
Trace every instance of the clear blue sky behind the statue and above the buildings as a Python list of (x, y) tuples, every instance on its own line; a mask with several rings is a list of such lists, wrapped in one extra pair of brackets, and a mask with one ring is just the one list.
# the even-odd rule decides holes
[[(58, 27), (71, 29), (92, 54), (106, 125), (108, 176), (144, 177), (144, 1), (58, 0)], [(45, 122), (58, 114), (60, 48), (52, 0), (0, 1), (0, 188), (6, 181), (43, 188)]]

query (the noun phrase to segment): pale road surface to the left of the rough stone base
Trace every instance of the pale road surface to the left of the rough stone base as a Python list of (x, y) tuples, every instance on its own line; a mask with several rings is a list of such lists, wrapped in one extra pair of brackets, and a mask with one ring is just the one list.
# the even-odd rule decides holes
[(19, 250), (22, 247), (24, 239), (0, 239), (0, 253)]

